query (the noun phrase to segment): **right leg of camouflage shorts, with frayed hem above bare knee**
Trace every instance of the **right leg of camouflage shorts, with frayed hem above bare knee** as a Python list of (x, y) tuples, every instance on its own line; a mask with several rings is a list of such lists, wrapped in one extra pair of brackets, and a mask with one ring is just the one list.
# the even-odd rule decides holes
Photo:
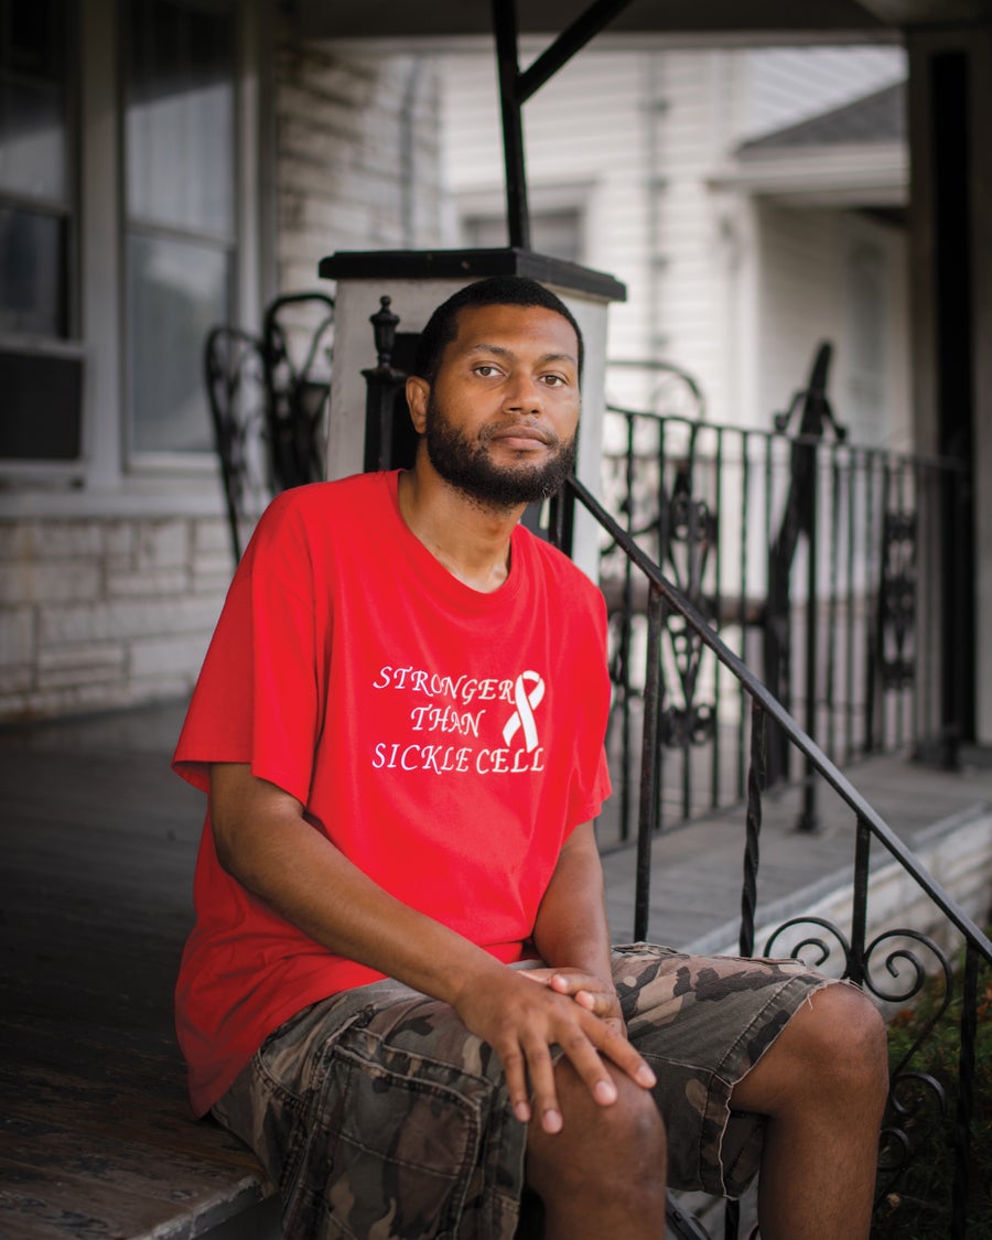
[(733, 1086), (830, 978), (799, 961), (614, 949), (631, 1042), (655, 1070), (673, 1188), (739, 1197), (761, 1156), (764, 1118), (732, 1112)]

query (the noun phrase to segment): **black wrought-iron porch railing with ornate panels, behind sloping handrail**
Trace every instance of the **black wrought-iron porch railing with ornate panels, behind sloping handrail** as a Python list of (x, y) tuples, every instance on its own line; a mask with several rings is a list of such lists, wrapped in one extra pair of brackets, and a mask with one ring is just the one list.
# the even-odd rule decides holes
[[(759, 670), (805, 732), (844, 765), (868, 754), (928, 748), (941, 718), (940, 574), (929, 515), (963, 466), (818, 434), (701, 423), (611, 405), (604, 507), (625, 537), (663, 567), (724, 644)], [(919, 591), (918, 580), (932, 589)], [(650, 631), (646, 580), (609, 534), (601, 585), (610, 611), (615, 697), (610, 756), (620, 796), (608, 828), (631, 837)], [(743, 804), (748, 712), (678, 611), (658, 635), (666, 697), (655, 744), (666, 822)], [(804, 780), (797, 826), (817, 825), (817, 780), (774, 725), (770, 782)]]

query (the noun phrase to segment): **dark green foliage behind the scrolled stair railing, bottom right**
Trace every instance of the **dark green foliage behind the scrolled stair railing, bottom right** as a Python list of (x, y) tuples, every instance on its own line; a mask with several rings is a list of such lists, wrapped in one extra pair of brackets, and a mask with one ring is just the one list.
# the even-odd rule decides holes
[[(955, 982), (955, 996), (947, 1009), (905, 1068), (925, 1073), (942, 1085), (947, 1095), (946, 1116), (939, 1120), (936, 1109), (930, 1106), (904, 1123), (913, 1147), (910, 1162), (877, 1205), (872, 1229), (875, 1240), (939, 1240), (950, 1235), (961, 1053), (960, 967)], [(890, 1021), (889, 1065), (893, 1071), (935, 1018), (942, 997), (942, 981), (931, 981), (913, 1007), (898, 1012)], [(880, 1183), (884, 1185), (884, 1179)], [(992, 1236), (992, 970), (985, 965), (978, 972), (977, 988), (967, 1235), (976, 1240)]]

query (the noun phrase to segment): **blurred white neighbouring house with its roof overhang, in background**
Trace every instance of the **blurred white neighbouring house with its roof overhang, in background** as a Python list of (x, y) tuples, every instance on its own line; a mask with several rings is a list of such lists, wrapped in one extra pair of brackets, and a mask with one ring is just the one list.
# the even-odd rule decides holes
[[(898, 47), (589, 48), (525, 107), (533, 246), (625, 283), (610, 357), (684, 368), (708, 419), (770, 428), (831, 340), (839, 420), (908, 448), (904, 77)], [(441, 81), (450, 243), (505, 244), (491, 58)]]

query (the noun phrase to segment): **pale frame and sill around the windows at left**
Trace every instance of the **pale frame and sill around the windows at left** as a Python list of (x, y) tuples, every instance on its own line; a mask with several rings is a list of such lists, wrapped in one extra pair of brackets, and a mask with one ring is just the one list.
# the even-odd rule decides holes
[[(77, 226), (72, 270), (73, 339), (36, 340), (38, 350), (83, 360), (82, 448), (74, 461), (0, 459), (0, 517), (223, 515), (212, 451), (128, 450), (122, 7), (126, 0), (72, 0), (71, 135)], [(258, 330), (275, 288), (277, 15), (263, 0), (238, 0), (234, 47), (236, 325)], [(268, 174), (268, 175), (267, 175)], [(0, 341), (11, 342), (7, 335)], [(24, 340), (16, 337), (17, 347)]]

